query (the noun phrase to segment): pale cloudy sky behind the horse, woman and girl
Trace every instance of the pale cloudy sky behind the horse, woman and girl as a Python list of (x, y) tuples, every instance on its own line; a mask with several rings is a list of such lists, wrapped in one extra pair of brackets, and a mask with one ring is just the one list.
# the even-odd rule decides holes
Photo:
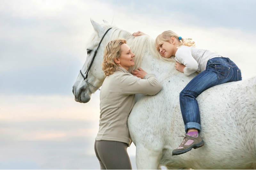
[[(255, 76), (256, 1), (0, 1), (0, 169), (99, 169), (99, 94), (77, 103), (90, 18), (153, 39), (165, 30)], [(128, 153), (135, 169), (135, 149)]]

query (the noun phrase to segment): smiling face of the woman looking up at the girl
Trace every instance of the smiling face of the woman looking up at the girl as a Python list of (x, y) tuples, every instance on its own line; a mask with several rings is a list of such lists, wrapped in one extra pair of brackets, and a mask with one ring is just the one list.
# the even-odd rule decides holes
[[(129, 67), (134, 66), (133, 57), (135, 54), (131, 52), (131, 48), (127, 44), (122, 44), (120, 46), (120, 57), (116, 58), (116, 63), (118, 66), (123, 67), (128, 71)], [(120, 64), (120, 65), (119, 65)]]

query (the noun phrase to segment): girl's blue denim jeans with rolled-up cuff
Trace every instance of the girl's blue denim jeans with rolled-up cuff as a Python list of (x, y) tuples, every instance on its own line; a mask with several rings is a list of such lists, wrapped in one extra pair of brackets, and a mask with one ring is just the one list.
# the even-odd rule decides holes
[(197, 74), (180, 92), (180, 110), (186, 133), (192, 128), (201, 130), (197, 96), (213, 86), (240, 80), (241, 71), (229, 58), (216, 57), (208, 60), (206, 69)]

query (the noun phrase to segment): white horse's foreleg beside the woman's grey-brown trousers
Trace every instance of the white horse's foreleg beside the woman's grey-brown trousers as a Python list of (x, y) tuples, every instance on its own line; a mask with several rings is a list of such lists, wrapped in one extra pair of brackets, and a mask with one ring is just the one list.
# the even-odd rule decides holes
[(137, 169), (159, 169), (162, 158), (162, 149), (154, 147), (148, 149), (143, 145), (136, 146)]

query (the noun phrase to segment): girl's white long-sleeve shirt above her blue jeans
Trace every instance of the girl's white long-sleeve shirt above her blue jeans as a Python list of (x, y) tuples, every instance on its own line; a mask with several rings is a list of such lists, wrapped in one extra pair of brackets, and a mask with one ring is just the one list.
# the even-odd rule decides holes
[(209, 50), (196, 48), (195, 46), (180, 46), (175, 54), (175, 60), (184, 66), (186, 76), (206, 69), (208, 60), (214, 57), (221, 57), (218, 53)]

